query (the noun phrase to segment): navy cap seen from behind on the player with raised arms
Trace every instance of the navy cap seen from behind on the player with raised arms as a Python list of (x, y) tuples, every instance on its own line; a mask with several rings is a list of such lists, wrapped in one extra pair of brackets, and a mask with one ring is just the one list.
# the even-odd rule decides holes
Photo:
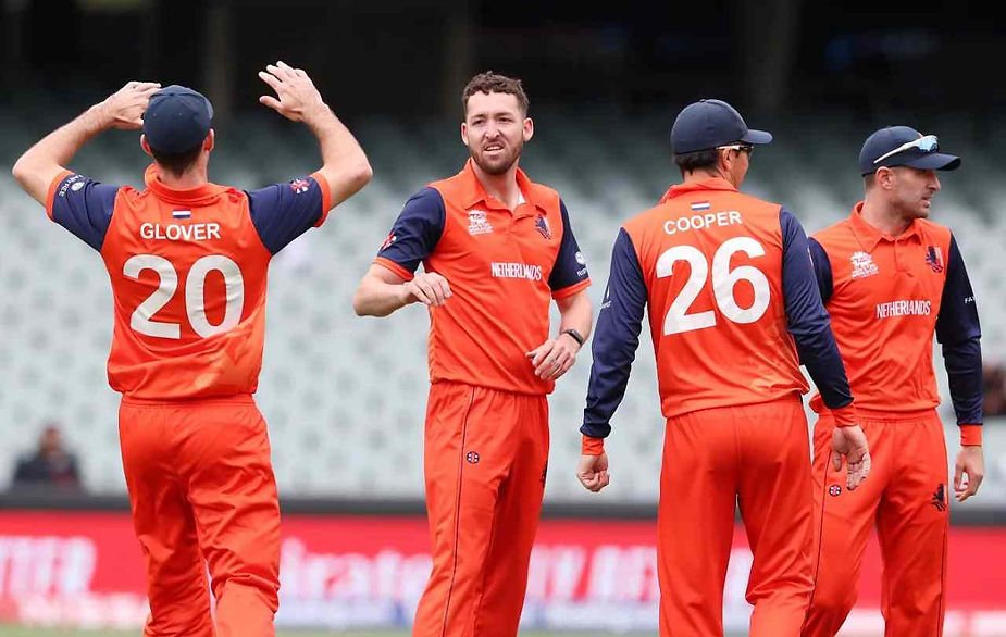
[(144, 135), (158, 152), (178, 154), (192, 150), (210, 133), (213, 104), (190, 88), (173, 84), (150, 98), (144, 113)]

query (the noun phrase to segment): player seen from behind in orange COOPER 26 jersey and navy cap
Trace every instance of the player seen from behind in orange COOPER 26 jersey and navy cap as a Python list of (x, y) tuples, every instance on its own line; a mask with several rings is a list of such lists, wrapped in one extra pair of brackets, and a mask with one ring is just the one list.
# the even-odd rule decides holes
[(649, 313), (667, 419), (657, 521), (663, 637), (722, 637), (738, 504), (754, 553), (750, 635), (799, 634), (812, 535), (800, 362), (836, 415), (829, 458), (837, 467), (847, 457), (846, 486), (869, 473), (804, 229), (782, 205), (737, 190), (755, 145), (771, 140), (720, 100), (678, 115), (671, 145), (683, 183), (622, 226), (597, 320), (579, 472), (594, 491), (609, 479), (604, 438)]

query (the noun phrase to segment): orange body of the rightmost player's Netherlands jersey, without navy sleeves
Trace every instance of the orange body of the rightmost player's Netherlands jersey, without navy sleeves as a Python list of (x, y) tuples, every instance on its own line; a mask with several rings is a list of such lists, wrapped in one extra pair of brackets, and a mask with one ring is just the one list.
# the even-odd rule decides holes
[[(862, 202), (848, 218), (814, 235), (831, 271), (825, 305), (856, 404), (916, 411), (940, 404), (933, 334), (946, 283), (951, 232), (915, 220), (890, 237), (864, 221)], [(822, 411), (818, 396), (811, 400)], [(977, 421), (980, 422), (980, 416)]]

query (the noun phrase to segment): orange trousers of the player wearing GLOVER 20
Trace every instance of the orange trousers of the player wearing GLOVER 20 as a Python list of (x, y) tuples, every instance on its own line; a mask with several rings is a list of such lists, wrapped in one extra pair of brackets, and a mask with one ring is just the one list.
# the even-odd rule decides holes
[(124, 398), (119, 436), (147, 564), (144, 635), (275, 635), (280, 501), (265, 421), (251, 397), (184, 403)]

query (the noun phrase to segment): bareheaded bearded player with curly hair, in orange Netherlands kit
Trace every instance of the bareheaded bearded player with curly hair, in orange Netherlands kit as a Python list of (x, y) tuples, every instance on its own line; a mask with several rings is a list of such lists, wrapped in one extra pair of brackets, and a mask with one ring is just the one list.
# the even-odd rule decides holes
[(546, 395), (589, 334), (589, 278), (558, 192), (518, 167), (534, 133), (521, 83), (479, 74), (462, 112), (471, 159), (406, 203), (353, 307), (430, 313), (433, 572), (413, 635), (513, 637), (545, 490)]

